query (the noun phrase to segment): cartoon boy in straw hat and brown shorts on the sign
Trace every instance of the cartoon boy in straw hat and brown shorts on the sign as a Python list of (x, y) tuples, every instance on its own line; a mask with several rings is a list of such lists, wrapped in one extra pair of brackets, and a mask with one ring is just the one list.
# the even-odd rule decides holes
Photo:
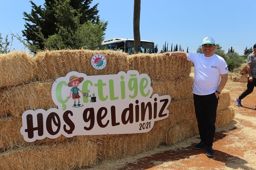
[[(81, 92), (82, 94), (84, 94), (84, 92), (82, 92), (78, 86), (79, 84), (84, 80), (83, 77), (77, 77), (77, 76), (70, 76), (69, 78), (69, 82), (68, 82), (68, 87), (72, 87), (69, 93), (68, 98), (70, 99), (71, 97), (71, 93), (72, 93), (72, 98), (74, 99), (74, 107), (78, 106), (80, 107), (80, 96), (79, 96), (79, 92)], [(78, 99), (78, 104), (76, 105), (76, 99)]]

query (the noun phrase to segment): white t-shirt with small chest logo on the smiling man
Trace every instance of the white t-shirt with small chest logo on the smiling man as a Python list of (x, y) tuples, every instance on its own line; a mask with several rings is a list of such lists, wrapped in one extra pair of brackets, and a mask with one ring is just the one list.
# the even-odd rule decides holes
[(188, 53), (187, 60), (194, 63), (193, 93), (197, 95), (214, 93), (220, 83), (220, 74), (228, 73), (227, 63), (216, 54), (211, 57), (205, 57), (201, 53)]

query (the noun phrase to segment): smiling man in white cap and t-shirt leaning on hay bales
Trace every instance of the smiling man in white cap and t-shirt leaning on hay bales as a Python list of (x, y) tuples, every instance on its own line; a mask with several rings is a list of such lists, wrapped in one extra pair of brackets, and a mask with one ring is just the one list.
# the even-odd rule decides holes
[[(206, 155), (212, 157), (212, 143), (215, 134), (216, 111), (220, 92), (228, 81), (228, 66), (225, 60), (214, 54), (216, 48), (212, 37), (205, 37), (201, 53), (182, 51), (167, 52), (163, 55), (186, 57), (194, 63), (195, 76), (193, 98), (201, 142), (194, 149), (206, 147)], [(220, 80), (221, 78), (221, 80)]]

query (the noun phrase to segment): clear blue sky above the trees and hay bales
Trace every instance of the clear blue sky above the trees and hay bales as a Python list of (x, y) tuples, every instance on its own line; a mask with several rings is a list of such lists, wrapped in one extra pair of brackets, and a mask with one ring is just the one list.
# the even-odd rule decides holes
[[(32, 0), (43, 5), (44, 0)], [(108, 21), (105, 39), (133, 39), (133, 0), (93, 0), (99, 3), (100, 19)], [(244, 48), (256, 43), (254, 0), (141, 0), (140, 39), (154, 41), (159, 51), (166, 41), (181, 45), (186, 51), (196, 52), (203, 38), (211, 36), (225, 52), (231, 46), (243, 55)], [(18, 33), (25, 29), (23, 12), (31, 12), (28, 0), (0, 2), (0, 33)], [(12, 48), (24, 49), (18, 41)]]

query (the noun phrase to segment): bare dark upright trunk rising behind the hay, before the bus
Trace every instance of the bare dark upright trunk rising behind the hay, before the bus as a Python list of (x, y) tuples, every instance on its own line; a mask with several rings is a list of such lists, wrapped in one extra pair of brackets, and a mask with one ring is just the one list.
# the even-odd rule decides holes
[(136, 53), (141, 52), (141, 49), (140, 49), (140, 0), (134, 0), (133, 37), (134, 37), (135, 52)]

